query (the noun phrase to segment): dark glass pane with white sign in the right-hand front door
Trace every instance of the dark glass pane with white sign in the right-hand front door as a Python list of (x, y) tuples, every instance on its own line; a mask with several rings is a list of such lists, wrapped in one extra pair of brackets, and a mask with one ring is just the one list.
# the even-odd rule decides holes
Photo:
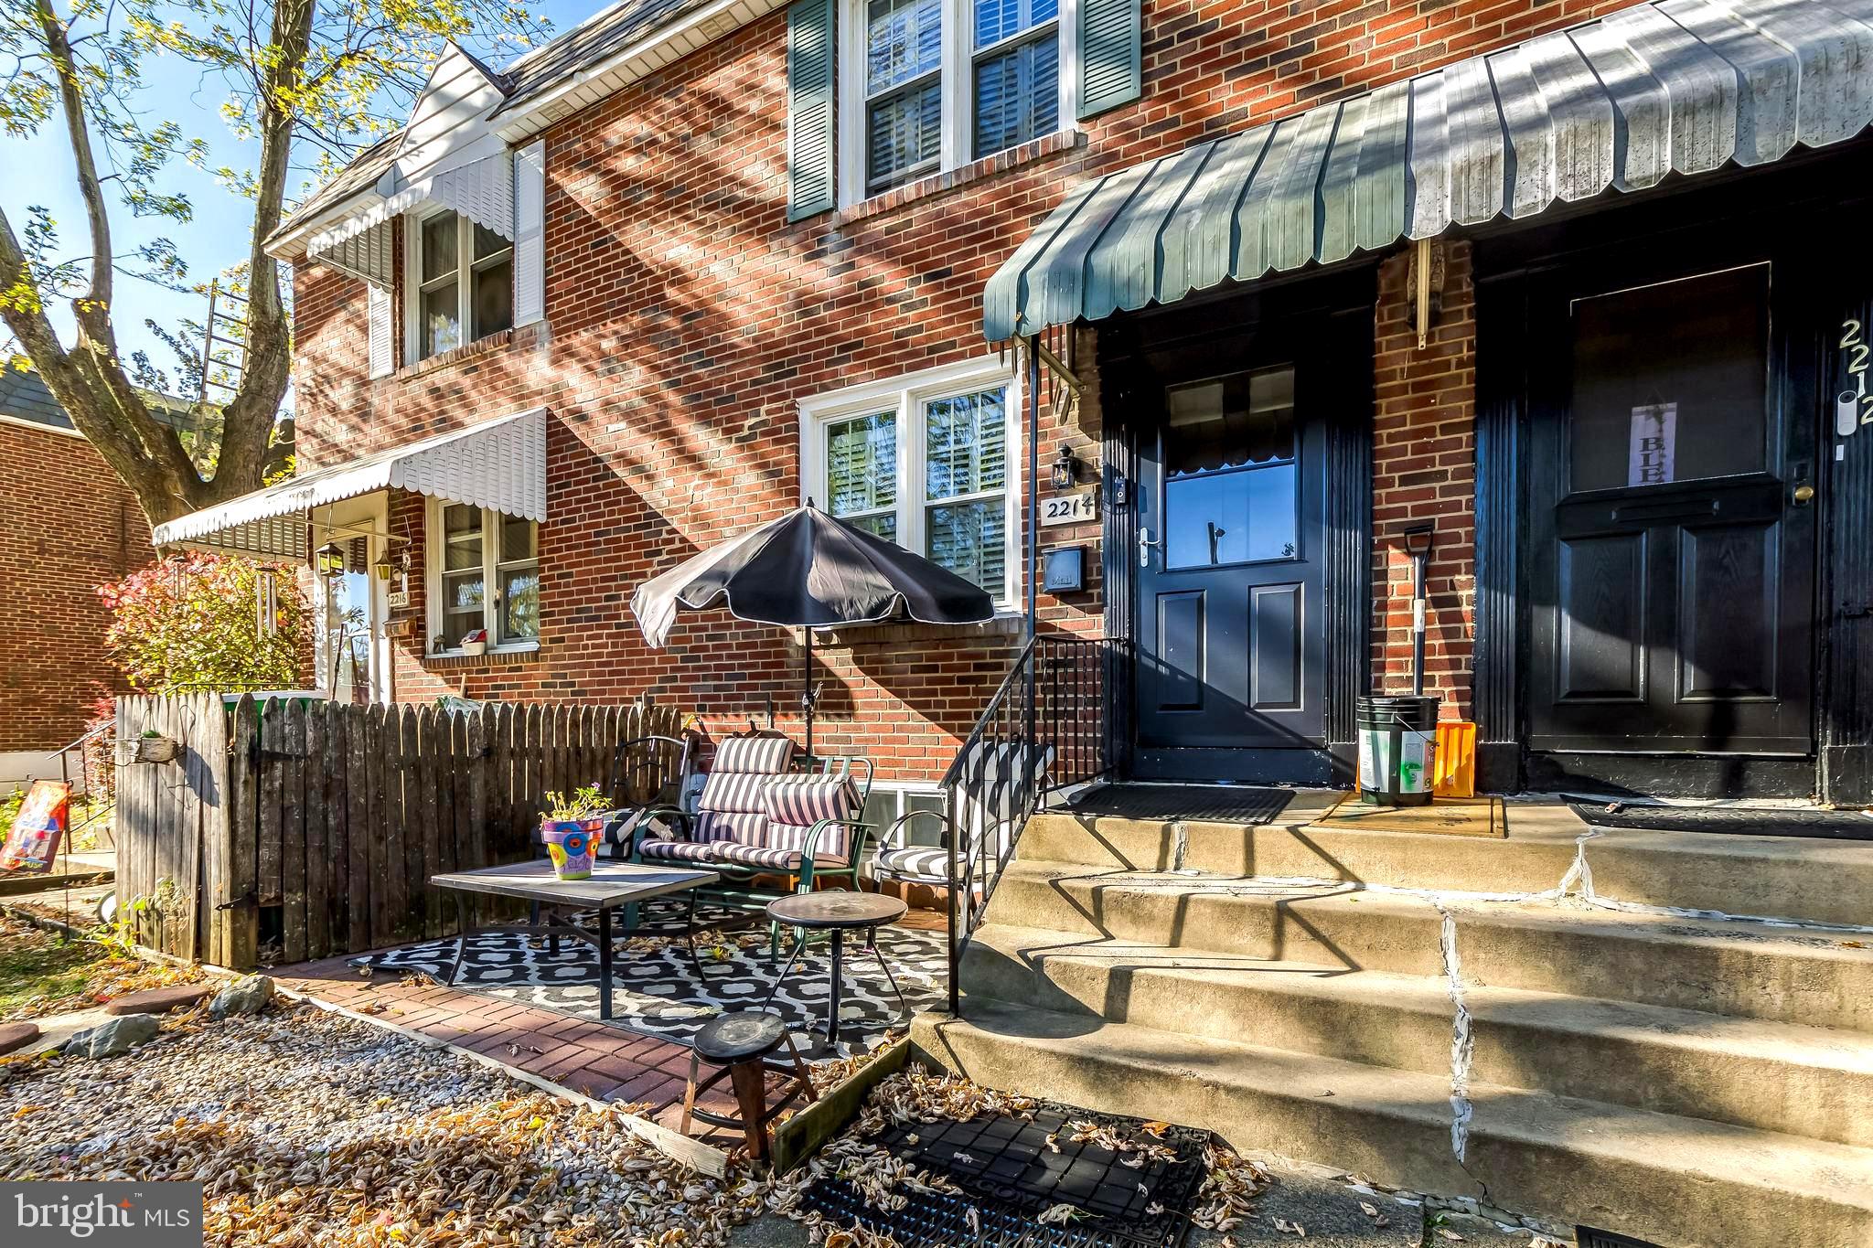
[(1573, 303), (1570, 490), (1762, 472), (1766, 264)]

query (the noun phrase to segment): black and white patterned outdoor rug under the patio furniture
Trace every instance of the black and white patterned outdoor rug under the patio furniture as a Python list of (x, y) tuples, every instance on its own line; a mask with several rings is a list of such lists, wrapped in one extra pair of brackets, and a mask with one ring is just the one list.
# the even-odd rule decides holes
[[(759, 943), (736, 949), (729, 941), (721, 947), (721, 958), (701, 949), (699, 941), (708, 973), (706, 982), (699, 982), (682, 939), (682, 907), (644, 906), (642, 926), (676, 936), (657, 949), (639, 951), (620, 939), (612, 954), (612, 1025), (689, 1044), (702, 1023), (717, 1014), (772, 1009), (787, 1020), (802, 1055), (830, 1061), (873, 1050), (884, 1042), (886, 1031), (903, 1031), (910, 1022), (878, 962), (863, 951), (863, 939), (856, 934), (847, 934), (841, 1035), (837, 1048), (830, 1048), (820, 1033), (809, 1031), (826, 1022), (832, 973), (828, 937), (820, 936), (800, 954), (787, 982), (774, 994), (772, 1005), (766, 1005), (768, 992), (787, 967), (787, 928), (781, 928), (781, 956), (772, 964), (766, 922), (747, 930), (760, 936)], [(890, 960), (910, 1012), (936, 1009), (946, 1001), (950, 960), (942, 932), (878, 928), (878, 952)], [(352, 965), (418, 971), (446, 980), (453, 960), (455, 939), (448, 937), (354, 958)], [(586, 941), (562, 939), (558, 956), (553, 956), (545, 939), (519, 932), (472, 936), (455, 988), (597, 1022), (597, 949)]]

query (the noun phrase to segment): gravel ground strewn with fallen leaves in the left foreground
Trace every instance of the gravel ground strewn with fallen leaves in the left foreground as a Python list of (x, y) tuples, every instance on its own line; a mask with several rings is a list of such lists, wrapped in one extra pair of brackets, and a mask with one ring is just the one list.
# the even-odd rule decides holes
[(305, 1005), (109, 1061), (0, 1059), (0, 1179), (199, 1179), (210, 1244), (674, 1248), (762, 1207), (612, 1113)]

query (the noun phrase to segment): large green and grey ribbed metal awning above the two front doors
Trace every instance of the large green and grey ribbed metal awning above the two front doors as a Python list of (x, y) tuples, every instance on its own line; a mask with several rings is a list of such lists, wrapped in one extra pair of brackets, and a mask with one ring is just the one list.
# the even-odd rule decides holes
[(1766, 165), (1869, 120), (1873, 0), (1639, 4), (1073, 187), (989, 279), (983, 333)]

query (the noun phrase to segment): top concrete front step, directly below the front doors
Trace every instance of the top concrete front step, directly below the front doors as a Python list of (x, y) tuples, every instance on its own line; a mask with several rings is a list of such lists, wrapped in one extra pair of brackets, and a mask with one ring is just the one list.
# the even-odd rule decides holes
[[(1038, 814), (1030, 861), (1107, 870), (1343, 879), (1395, 889), (1545, 892), (1588, 831), (1564, 805), (1506, 803), (1510, 834), (1431, 836), (1320, 827), (1320, 793), (1298, 793), (1266, 825)], [(1804, 922), (1873, 922), (1873, 842), (1607, 829), (1586, 842), (1594, 891), (1611, 900)], [(1826, 881), (1826, 887), (1817, 887)]]

